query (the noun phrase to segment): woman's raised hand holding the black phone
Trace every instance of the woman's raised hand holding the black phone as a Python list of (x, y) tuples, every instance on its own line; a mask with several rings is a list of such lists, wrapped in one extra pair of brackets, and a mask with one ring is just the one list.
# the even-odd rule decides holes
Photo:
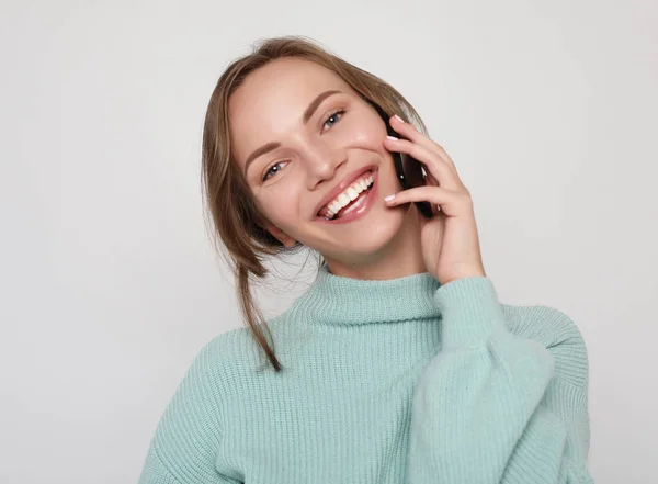
[(386, 201), (388, 206), (430, 202), (432, 218), (419, 213), (422, 256), (428, 271), (442, 285), (470, 277), (486, 277), (470, 193), (462, 183), (447, 153), (401, 119), (390, 126), (406, 139), (386, 138), (389, 151), (409, 154), (426, 167), (426, 187), (402, 190)]

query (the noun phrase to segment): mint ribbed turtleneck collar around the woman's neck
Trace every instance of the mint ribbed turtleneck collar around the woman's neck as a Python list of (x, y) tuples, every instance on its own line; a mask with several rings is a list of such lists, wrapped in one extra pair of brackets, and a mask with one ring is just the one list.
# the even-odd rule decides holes
[(434, 318), (440, 283), (429, 272), (387, 280), (336, 275), (322, 266), (316, 281), (291, 306), (305, 324), (362, 325)]

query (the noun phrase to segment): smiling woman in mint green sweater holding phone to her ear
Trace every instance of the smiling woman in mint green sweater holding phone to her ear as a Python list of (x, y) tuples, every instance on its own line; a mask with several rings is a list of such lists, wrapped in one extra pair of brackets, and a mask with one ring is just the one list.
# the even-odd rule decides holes
[[(249, 329), (196, 357), (140, 483), (591, 482), (580, 333), (498, 302), (468, 190), (424, 133), (392, 86), (304, 38), (222, 75), (204, 187)], [(394, 153), (427, 185), (401, 190)], [(304, 247), (316, 281), (263, 322), (250, 277)]]

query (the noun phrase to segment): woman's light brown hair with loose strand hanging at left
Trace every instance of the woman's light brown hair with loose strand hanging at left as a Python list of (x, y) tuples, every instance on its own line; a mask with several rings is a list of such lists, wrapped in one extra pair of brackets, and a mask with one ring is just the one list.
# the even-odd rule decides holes
[[(375, 103), (389, 115), (398, 114), (423, 133), (427, 128), (413, 106), (389, 83), (341, 59), (317, 41), (303, 36), (284, 36), (258, 41), (249, 55), (232, 60), (219, 77), (205, 114), (202, 146), (202, 191), (204, 207), (212, 220), (211, 239), (217, 254), (236, 279), (240, 312), (258, 345), (276, 372), (272, 334), (251, 292), (251, 285), (268, 275), (263, 262), (269, 257), (298, 252), (297, 243), (286, 248), (265, 230), (264, 215), (253, 201), (242, 172), (234, 160), (230, 139), (228, 101), (247, 76), (272, 60), (297, 57), (311, 60), (338, 74), (365, 101)], [(207, 220), (206, 220), (207, 222)], [(326, 266), (322, 257), (318, 269)], [(263, 333), (265, 328), (268, 338)]]

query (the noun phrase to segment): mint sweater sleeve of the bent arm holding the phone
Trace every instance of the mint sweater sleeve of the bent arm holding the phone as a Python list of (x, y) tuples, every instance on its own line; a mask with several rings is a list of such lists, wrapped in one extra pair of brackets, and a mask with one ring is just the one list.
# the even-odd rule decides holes
[[(490, 279), (439, 288), (443, 347), (413, 393), (409, 484), (592, 483), (588, 365), (576, 326), (547, 345), (512, 334)], [(566, 335), (566, 337), (565, 337)]]

